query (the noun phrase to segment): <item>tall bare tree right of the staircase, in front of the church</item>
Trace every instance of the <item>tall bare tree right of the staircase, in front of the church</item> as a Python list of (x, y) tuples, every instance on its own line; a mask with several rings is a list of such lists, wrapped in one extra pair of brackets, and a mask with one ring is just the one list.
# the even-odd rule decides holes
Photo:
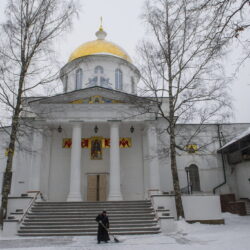
[[(158, 102), (170, 136), (170, 162), (177, 217), (184, 217), (177, 172), (177, 150), (192, 138), (176, 142), (177, 124), (225, 119), (230, 110), (227, 79), (219, 59), (229, 42), (221, 34), (221, 16), (194, 0), (146, 1), (142, 16), (149, 37), (139, 46), (144, 94)], [(168, 112), (162, 103), (168, 100)], [(195, 132), (196, 134), (199, 131)], [(194, 136), (194, 135), (193, 135)]]

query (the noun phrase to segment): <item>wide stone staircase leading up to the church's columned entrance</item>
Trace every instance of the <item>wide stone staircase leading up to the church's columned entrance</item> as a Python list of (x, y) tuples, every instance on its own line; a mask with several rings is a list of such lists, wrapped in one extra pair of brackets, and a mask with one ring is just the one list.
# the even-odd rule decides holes
[(160, 228), (150, 201), (36, 202), (19, 236), (96, 235), (95, 218), (106, 210), (115, 235), (157, 234)]

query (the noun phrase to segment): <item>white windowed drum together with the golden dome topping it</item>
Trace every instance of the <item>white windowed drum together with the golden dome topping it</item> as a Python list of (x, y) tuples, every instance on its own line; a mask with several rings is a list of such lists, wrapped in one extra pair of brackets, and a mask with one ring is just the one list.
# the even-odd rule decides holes
[(101, 26), (96, 32), (96, 40), (86, 42), (73, 51), (60, 73), (64, 92), (101, 86), (137, 93), (138, 69), (121, 47), (105, 40), (106, 36)]

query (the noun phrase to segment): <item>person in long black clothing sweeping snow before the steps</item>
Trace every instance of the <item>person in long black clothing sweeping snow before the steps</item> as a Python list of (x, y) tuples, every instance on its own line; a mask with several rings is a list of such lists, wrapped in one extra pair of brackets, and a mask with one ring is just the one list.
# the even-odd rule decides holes
[[(109, 218), (107, 216), (106, 211), (103, 211), (101, 214), (95, 219), (98, 222), (98, 232), (97, 232), (97, 243), (100, 244), (101, 241), (108, 242), (110, 240), (108, 230), (105, 229), (109, 228)], [(105, 227), (103, 227), (103, 225)]]

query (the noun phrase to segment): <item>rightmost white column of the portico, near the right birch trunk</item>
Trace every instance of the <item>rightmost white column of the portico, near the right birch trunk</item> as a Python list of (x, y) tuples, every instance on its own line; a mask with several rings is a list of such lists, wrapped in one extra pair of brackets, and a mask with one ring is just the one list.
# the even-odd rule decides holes
[(157, 132), (155, 122), (147, 121), (147, 143), (149, 163), (149, 188), (151, 193), (160, 191), (160, 171), (157, 149)]

